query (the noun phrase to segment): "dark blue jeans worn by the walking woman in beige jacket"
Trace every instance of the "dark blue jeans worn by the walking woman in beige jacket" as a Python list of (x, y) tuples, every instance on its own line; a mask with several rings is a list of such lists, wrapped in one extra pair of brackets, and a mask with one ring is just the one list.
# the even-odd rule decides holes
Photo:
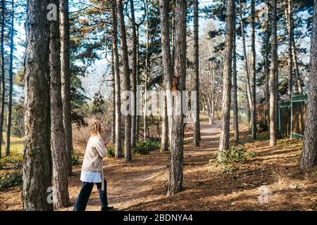
[(108, 199), (107, 199), (107, 181), (104, 180), (104, 191), (101, 191), (101, 183), (88, 183), (82, 182), (82, 189), (80, 190), (80, 194), (75, 203), (74, 211), (85, 211), (86, 206), (92, 193), (92, 188), (94, 184), (97, 184), (97, 188), (99, 191), (99, 197), (101, 201), (101, 208), (108, 206)]

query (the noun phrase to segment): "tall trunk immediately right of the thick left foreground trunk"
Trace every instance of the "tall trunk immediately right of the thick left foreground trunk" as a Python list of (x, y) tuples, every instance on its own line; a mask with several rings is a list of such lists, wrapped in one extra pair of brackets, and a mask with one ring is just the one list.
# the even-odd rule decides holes
[[(58, 6), (58, 1), (51, 1)], [(57, 13), (59, 15), (59, 13)], [(49, 42), (50, 97), (51, 97), (51, 152), (53, 158), (54, 208), (70, 204), (68, 195), (68, 152), (63, 127), (63, 102), (61, 98), (60, 34), (58, 20), (51, 20)]]

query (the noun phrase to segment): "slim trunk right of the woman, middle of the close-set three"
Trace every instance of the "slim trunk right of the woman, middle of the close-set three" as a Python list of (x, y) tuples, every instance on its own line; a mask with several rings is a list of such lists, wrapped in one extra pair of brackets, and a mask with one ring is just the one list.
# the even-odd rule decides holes
[[(123, 15), (123, 3), (122, 0), (118, 0), (118, 20), (120, 27), (120, 43), (123, 58), (123, 75), (125, 79), (125, 91), (130, 91), (130, 68), (129, 68), (129, 58), (128, 58), (128, 46), (127, 37), (125, 33), (125, 18)], [(131, 107), (131, 99), (129, 107)], [(131, 153), (131, 115), (125, 115), (125, 162), (132, 160)]]

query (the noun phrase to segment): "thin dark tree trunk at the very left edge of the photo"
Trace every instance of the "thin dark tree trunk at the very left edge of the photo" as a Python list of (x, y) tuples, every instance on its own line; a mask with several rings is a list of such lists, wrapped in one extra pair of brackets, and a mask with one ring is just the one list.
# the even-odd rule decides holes
[(0, 84), (0, 92), (1, 92), (1, 99), (0, 99), (0, 158), (1, 158), (1, 151), (2, 151), (2, 143), (3, 135), (2, 129), (4, 127), (4, 95), (5, 95), (5, 74), (4, 74), (4, 24), (6, 23), (6, 4), (4, 0), (1, 0), (1, 84)]

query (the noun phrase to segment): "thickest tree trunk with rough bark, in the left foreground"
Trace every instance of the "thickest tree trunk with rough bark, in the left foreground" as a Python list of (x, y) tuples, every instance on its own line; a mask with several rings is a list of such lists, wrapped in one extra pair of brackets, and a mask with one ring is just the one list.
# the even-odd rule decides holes
[(52, 210), (47, 0), (27, 1), (23, 210)]

